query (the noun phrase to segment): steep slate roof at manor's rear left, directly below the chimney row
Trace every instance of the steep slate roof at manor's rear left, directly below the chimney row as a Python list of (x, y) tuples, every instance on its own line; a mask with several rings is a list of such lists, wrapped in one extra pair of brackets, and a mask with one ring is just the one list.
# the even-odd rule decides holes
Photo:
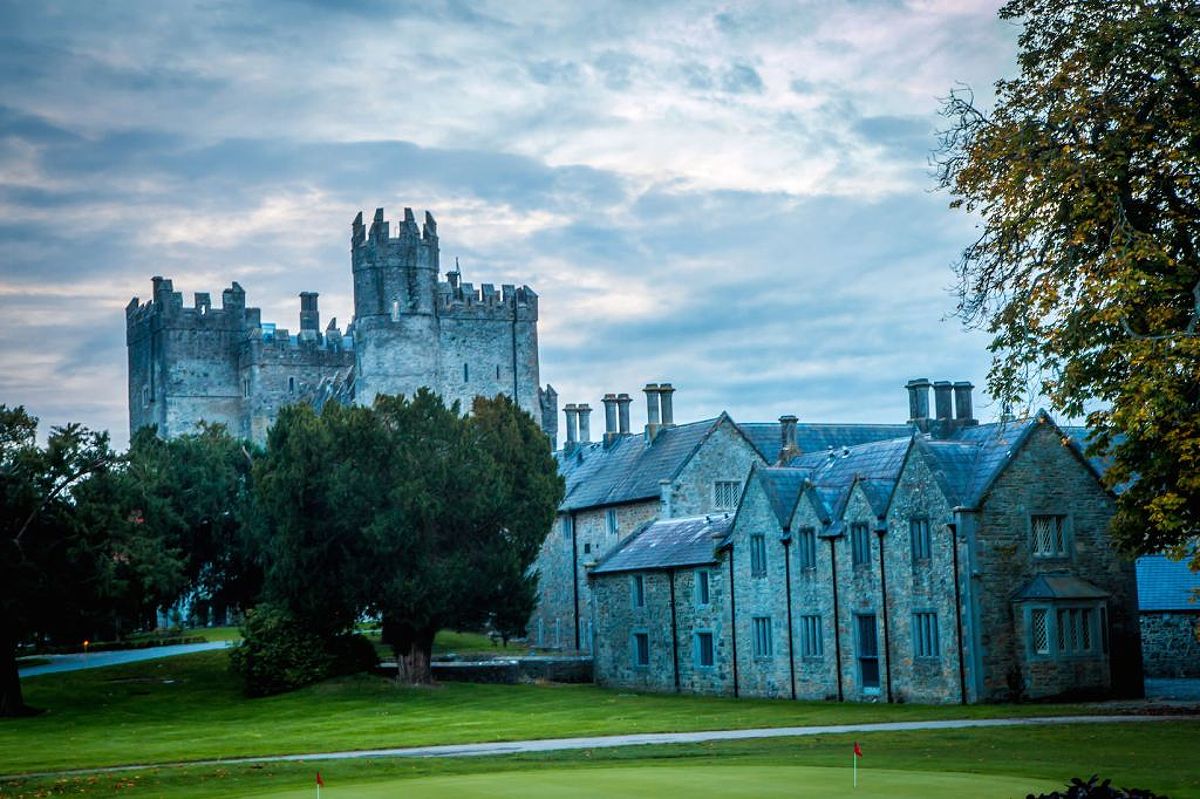
[(566, 493), (558, 509), (570, 511), (658, 497), (659, 481), (674, 477), (722, 420), (733, 423), (721, 414), (716, 419), (664, 428), (649, 445), (643, 435), (628, 434), (608, 446), (593, 441), (569, 453), (556, 452), (558, 473), (566, 481)]

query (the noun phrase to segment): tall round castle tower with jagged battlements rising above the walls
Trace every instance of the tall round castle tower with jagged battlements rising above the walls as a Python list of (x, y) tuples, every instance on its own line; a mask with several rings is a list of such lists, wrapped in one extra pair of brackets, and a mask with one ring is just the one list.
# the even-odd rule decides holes
[(419, 229), (413, 210), (396, 238), (377, 209), (371, 228), (354, 218), (350, 259), (354, 270), (355, 402), (371, 404), (377, 394), (412, 396), (439, 380), (438, 228), (425, 214)]

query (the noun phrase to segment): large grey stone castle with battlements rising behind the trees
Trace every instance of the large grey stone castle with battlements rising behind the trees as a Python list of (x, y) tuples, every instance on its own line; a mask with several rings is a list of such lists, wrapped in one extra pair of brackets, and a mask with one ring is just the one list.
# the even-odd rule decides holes
[(438, 228), (412, 209), (391, 235), (383, 209), (350, 230), (354, 319), (323, 331), (318, 296), (300, 294), (300, 328), (262, 320), (234, 282), (221, 307), (197, 293), (192, 307), (172, 281), (154, 278), (149, 302), (125, 308), (130, 433), (154, 425), (163, 437), (202, 421), (256, 441), (280, 408), (336, 401), (370, 404), (379, 394), (428, 386), (469, 409), (476, 396), (505, 394), (553, 441), (557, 397), (539, 385), (538, 295), (528, 286), (462, 282), (457, 265), (439, 280)]

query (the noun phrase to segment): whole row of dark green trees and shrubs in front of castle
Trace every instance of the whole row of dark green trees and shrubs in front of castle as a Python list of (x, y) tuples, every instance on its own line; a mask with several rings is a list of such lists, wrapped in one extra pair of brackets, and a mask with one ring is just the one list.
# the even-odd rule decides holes
[(373, 408), (286, 408), (266, 446), (217, 425), (126, 452), (56, 427), (44, 444), (0, 405), (0, 715), (25, 707), (22, 645), (110, 639), (202, 597), (247, 611), (234, 667), (270, 693), (373, 661), (379, 620), (398, 677), (430, 679), (433, 636), (523, 635), (530, 566), (563, 485), (510, 400), (472, 415), (420, 391)]

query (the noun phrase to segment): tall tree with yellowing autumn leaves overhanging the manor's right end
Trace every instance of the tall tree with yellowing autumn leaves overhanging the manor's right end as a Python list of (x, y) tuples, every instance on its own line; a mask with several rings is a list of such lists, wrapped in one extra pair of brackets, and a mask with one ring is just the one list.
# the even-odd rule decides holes
[(958, 311), (994, 335), (990, 394), (1092, 429), (1130, 553), (1200, 569), (1200, 6), (1010, 0), (1018, 77), (944, 104), (935, 156), (979, 218)]

